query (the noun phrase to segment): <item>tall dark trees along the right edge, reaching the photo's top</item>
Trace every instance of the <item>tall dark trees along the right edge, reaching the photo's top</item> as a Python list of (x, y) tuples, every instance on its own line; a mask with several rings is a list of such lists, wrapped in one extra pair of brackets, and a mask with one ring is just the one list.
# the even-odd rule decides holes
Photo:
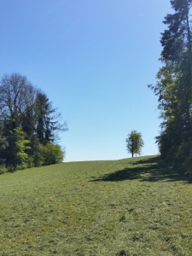
[(160, 67), (157, 83), (148, 85), (158, 96), (160, 135), (156, 137), (160, 154), (192, 177), (192, 0), (171, 0), (173, 14), (163, 21)]

